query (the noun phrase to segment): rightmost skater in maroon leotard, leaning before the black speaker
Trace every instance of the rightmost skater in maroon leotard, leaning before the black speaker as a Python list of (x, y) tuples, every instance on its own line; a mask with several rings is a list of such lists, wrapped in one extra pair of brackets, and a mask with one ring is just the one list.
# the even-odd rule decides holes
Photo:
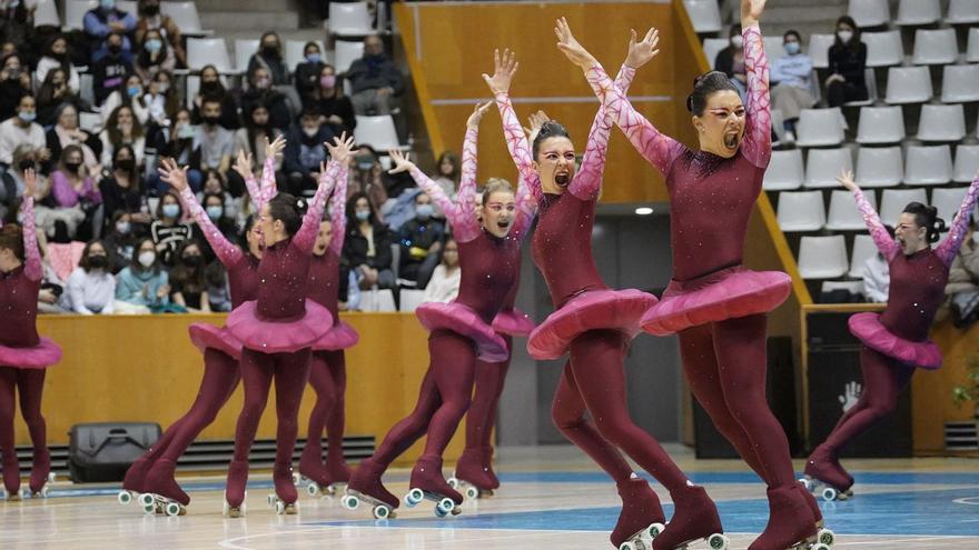
[(882, 313), (857, 313), (850, 318), (850, 332), (861, 342), (860, 369), (863, 392), (837, 423), (832, 433), (805, 462), (805, 476), (832, 488), (825, 497), (833, 499), (853, 486), (853, 477), (840, 466), (839, 452), (870, 428), (893, 412), (898, 396), (908, 387), (916, 367), (938, 369), (941, 351), (928, 340), (934, 312), (945, 300), (949, 267), (962, 243), (969, 217), (979, 196), (979, 176), (966, 192), (949, 234), (932, 249), (945, 224), (937, 219), (934, 207), (912, 202), (904, 208), (892, 239), (880, 217), (844, 172), (840, 182), (853, 192), (857, 206), (878, 250), (890, 266), (891, 284), (887, 309)]

